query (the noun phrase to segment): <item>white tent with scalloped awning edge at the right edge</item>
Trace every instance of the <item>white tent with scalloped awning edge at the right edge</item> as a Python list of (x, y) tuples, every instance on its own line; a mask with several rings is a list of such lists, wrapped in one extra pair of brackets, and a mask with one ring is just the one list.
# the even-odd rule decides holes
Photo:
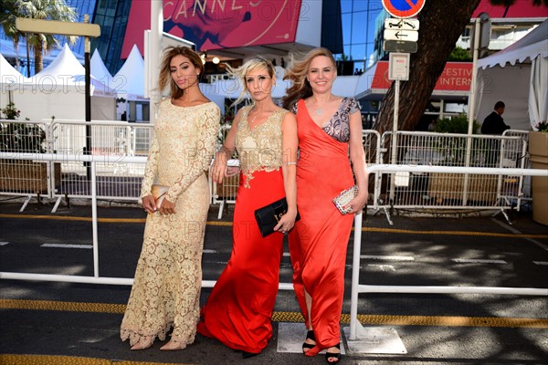
[(548, 20), (500, 52), (479, 59), (481, 122), (498, 100), (504, 101), (506, 124), (530, 130), (548, 115)]

